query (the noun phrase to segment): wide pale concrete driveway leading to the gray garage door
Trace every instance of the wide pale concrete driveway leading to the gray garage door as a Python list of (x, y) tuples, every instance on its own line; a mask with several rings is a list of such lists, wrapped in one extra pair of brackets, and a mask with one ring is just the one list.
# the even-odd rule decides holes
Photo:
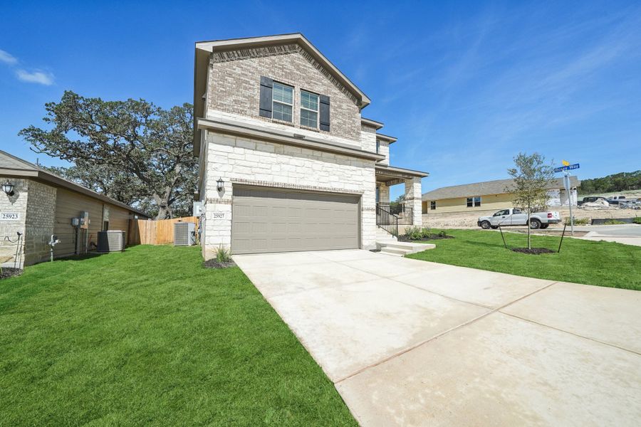
[(641, 419), (641, 292), (368, 251), (234, 260), (364, 426)]

